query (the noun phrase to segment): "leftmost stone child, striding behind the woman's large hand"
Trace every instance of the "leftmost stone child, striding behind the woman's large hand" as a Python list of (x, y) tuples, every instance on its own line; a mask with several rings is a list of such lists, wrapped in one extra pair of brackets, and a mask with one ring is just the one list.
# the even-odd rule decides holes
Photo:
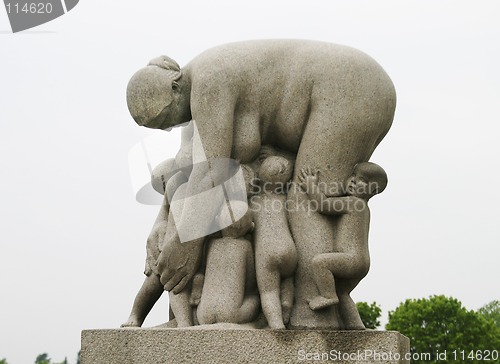
[[(192, 168), (192, 138), (194, 127), (192, 123), (184, 127), (181, 135), (181, 147), (175, 159), (168, 159), (156, 167), (151, 175), (153, 188), (164, 194), (164, 199), (158, 217), (146, 244), (146, 279), (136, 295), (130, 317), (121, 327), (140, 327), (154, 304), (164, 291), (160, 277), (153, 271), (160, 254), (160, 244), (165, 235), (175, 234), (175, 223), (170, 212), (170, 201), (183, 194), (185, 183)], [(184, 188), (183, 188), (184, 186)], [(167, 240), (167, 239), (165, 239)], [(181, 293), (174, 295), (169, 292), (169, 301), (175, 316), (177, 327), (193, 326), (192, 306), (197, 304), (198, 291), (201, 290), (199, 277), (193, 278), (192, 287), (187, 287)], [(192, 296), (191, 297), (191, 291)]]

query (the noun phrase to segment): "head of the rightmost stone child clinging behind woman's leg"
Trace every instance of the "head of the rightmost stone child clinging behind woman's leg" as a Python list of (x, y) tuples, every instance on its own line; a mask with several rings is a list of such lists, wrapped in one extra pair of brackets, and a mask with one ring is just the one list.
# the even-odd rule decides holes
[(387, 186), (387, 174), (378, 164), (358, 163), (351, 177), (347, 180), (347, 193), (365, 200), (384, 191)]

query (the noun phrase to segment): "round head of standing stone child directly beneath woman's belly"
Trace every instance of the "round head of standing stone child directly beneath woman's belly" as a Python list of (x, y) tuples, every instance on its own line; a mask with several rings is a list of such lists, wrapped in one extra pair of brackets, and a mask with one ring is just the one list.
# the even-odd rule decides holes
[(261, 187), (266, 191), (283, 188), (292, 177), (292, 163), (280, 156), (264, 159), (259, 169)]

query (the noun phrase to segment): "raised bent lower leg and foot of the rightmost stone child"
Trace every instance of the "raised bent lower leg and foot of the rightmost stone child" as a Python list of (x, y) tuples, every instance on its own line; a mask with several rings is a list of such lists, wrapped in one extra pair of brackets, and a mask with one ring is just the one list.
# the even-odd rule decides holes
[(319, 296), (309, 301), (312, 310), (319, 310), (339, 302), (335, 290), (335, 277), (333, 271), (337, 270), (336, 264), (342, 260), (341, 253), (318, 254), (312, 260), (313, 277), (318, 287)]

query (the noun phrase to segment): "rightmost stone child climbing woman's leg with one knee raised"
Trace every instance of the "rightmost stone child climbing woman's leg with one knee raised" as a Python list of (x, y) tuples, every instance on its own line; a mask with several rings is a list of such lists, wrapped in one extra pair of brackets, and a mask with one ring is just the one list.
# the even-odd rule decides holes
[(318, 177), (311, 170), (299, 174), (301, 187), (322, 214), (338, 215), (336, 249), (316, 255), (312, 260), (313, 277), (319, 295), (309, 301), (312, 310), (339, 304), (346, 329), (364, 329), (350, 292), (368, 273), (368, 200), (387, 186), (387, 175), (379, 165), (359, 163), (346, 181), (346, 196), (327, 197), (319, 191)]

